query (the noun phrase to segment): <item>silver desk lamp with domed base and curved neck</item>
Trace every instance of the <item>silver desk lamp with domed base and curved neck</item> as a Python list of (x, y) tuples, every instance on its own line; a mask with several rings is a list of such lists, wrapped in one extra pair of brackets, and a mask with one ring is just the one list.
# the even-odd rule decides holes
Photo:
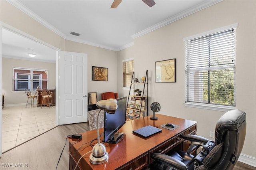
[[(101, 100), (96, 103), (96, 106), (103, 111), (114, 114), (117, 109), (116, 99)], [(108, 160), (108, 152), (106, 152), (106, 146), (100, 143), (100, 132), (98, 127), (98, 119), (100, 111), (97, 117), (97, 137), (98, 143), (92, 148), (92, 153), (89, 156), (89, 161), (92, 164), (102, 164)]]

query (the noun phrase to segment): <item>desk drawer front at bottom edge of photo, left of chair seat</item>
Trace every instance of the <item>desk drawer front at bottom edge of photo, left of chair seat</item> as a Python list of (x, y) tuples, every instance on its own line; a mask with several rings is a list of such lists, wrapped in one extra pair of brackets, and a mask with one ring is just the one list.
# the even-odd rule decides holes
[(148, 154), (144, 154), (143, 156), (137, 158), (132, 161), (130, 164), (124, 165), (122, 168), (118, 168), (118, 170), (141, 170), (147, 169), (148, 167)]

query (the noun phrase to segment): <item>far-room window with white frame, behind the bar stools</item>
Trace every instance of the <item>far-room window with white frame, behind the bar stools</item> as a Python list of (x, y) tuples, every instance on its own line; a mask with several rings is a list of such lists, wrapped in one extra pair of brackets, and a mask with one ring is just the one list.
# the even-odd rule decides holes
[(48, 87), (48, 70), (13, 68), (13, 90), (35, 90)]

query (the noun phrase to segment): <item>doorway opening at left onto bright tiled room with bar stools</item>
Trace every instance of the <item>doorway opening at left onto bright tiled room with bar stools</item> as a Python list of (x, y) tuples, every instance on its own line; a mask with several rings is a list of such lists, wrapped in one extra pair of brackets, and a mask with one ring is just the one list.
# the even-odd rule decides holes
[[(36, 56), (30, 57), (29, 53)], [(50, 108), (45, 106), (42, 109), (38, 105), (32, 105), (32, 108), (26, 107), (28, 97), (24, 90), (14, 90), (12, 71), (13, 67), (47, 70), (47, 89), (55, 89), (57, 85), (56, 49), (22, 36), (11, 29), (2, 28), (2, 66), (2, 94), (4, 95), (4, 108), (1, 113), (2, 152), (5, 152), (57, 125), (55, 106)], [(26, 83), (29, 84), (24, 79), (20, 83), (23, 83), (23, 86), (24, 84), (26, 86)], [(33, 92), (37, 91), (33, 90)]]

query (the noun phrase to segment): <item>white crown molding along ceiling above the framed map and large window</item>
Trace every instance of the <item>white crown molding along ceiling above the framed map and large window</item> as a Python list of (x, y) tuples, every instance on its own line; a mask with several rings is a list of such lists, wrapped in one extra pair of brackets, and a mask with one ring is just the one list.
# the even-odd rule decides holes
[(166, 26), (174, 21), (177, 21), (177, 20), (180, 20), (181, 18), (184, 18), (186, 16), (189, 16), (195, 12), (198, 12), (200, 10), (203, 10), (204, 8), (208, 8), (209, 6), (212, 6), (214, 4), (217, 4), (219, 2), (221, 2), (223, 0), (207, 0), (207, 1), (203, 1), (201, 4), (199, 4), (198, 6), (196, 7), (193, 7), (193, 8), (190, 8), (184, 12), (181, 12), (179, 14), (176, 14), (175, 16), (171, 17), (171, 18), (168, 18), (158, 24), (155, 24), (154, 26), (151, 26), (149, 28), (146, 28), (145, 30), (142, 30), (141, 32), (138, 32), (134, 35), (132, 35), (132, 38), (138, 38), (140, 36), (143, 36), (144, 34), (147, 34), (149, 32), (152, 32), (158, 28), (161, 28), (163, 26)]

